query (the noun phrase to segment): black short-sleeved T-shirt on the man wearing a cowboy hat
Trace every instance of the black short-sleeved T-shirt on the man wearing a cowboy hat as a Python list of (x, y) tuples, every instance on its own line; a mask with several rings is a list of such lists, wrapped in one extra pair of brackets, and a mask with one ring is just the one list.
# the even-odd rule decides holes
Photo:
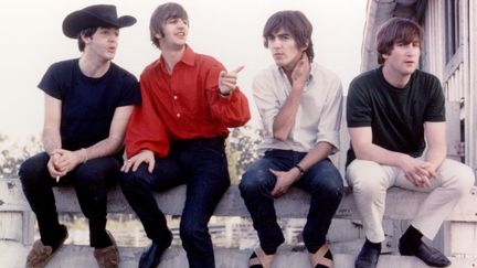
[(99, 78), (85, 76), (78, 58), (54, 63), (39, 87), (62, 100), (60, 133), (62, 148), (67, 150), (106, 139), (116, 108), (140, 103), (137, 78), (114, 63)]

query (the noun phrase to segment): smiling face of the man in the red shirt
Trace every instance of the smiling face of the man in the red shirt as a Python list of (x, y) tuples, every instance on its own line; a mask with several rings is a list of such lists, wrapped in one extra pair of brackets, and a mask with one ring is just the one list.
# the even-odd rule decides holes
[(182, 49), (187, 43), (189, 33), (189, 21), (181, 18), (169, 18), (162, 25), (163, 36), (156, 33), (161, 50), (163, 49)]

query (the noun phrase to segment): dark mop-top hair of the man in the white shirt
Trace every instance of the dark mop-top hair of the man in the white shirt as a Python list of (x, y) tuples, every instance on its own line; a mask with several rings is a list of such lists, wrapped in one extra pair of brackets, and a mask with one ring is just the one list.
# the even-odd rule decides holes
[(305, 14), (297, 10), (284, 10), (268, 18), (263, 31), (266, 49), (268, 49), (268, 39), (282, 29), (292, 34), (299, 49), (307, 47), (305, 52), (312, 62), (315, 57), (311, 42), (312, 25)]

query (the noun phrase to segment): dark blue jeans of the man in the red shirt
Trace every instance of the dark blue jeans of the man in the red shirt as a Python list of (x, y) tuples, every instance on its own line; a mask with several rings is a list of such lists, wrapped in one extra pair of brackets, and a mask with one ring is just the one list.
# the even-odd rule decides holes
[(156, 244), (171, 243), (166, 217), (153, 192), (187, 184), (186, 204), (180, 223), (180, 237), (190, 267), (215, 267), (208, 223), (230, 185), (223, 138), (176, 141), (168, 157), (156, 159), (152, 173), (147, 164), (136, 172), (121, 173), (120, 185), (130, 206)]

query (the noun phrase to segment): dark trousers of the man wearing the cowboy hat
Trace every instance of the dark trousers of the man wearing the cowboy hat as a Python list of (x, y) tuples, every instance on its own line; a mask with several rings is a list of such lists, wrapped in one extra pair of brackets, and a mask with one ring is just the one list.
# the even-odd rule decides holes
[(53, 186), (72, 184), (84, 215), (89, 221), (89, 244), (102, 248), (110, 245), (106, 234), (107, 187), (117, 183), (120, 162), (115, 158), (92, 159), (80, 164), (56, 183), (47, 170), (50, 156), (39, 153), (26, 159), (19, 175), (24, 195), (36, 214), (41, 240), (45, 245), (57, 243), (60, 223)]

